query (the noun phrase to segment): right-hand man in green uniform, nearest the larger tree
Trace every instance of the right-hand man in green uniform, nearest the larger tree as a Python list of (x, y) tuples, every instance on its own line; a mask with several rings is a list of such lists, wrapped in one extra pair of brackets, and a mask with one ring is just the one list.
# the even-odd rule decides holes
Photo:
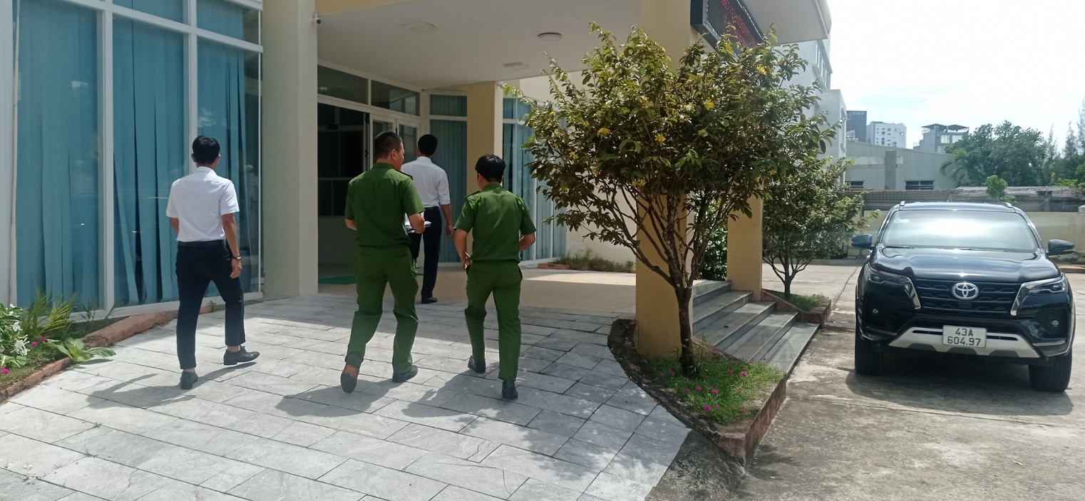
[[(483, 324), (486, 300), (494, 294), (498, 325), (498, 377), (503, 382), (501, 397), (516, 398), (516, 370), (520, 365), (520, 253), (535, 243), (535, 223), (524, 201), (501, 187), (505, 160), (484, 155), (475, 164), (478, 188), (463, 203), (456, 222), (456, 249), (460, 265), (468, 270), (468, 308), (463, 311), (474, 355), (468, 368), (486, 372), (486, 345)], [(474, 231), (473, 254), (468, 255), (468, 233)]]

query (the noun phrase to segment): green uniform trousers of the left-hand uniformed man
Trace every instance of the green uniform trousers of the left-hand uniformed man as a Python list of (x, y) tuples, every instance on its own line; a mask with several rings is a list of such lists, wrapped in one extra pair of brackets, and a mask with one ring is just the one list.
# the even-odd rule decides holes
[(410, 349), (418, 333), (418, 313), (414, 312), (414, 296), (418, 294), (418, 279), (414, 275), (414, 260), (410, 248), (361, 247), (354, 264), (354, 275), (358, 290), (358, 311), (350, 324), (350, 343), (347, 345), (347, 361), (365, 360), (366, 344), (373, 338), (376, 325), (384, 311), (384, 290), (392, 287), (396, 316), (396, 337), (392, 345), (392, 370), (406, 372), (412, 359)]

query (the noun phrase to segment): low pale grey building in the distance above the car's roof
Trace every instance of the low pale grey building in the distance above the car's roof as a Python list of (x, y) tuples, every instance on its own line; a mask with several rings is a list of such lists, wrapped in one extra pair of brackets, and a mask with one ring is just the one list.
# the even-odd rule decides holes
[(854, 165), (844, 174), (853, 190), (953, 190), (958, 183), (942, 166), (953, 155), (880, 144), (852, 143), (847, 147)]

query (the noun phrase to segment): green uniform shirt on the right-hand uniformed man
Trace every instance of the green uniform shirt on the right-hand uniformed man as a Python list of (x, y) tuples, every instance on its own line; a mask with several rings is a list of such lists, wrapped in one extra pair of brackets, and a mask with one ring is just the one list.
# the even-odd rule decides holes
[(535, 233), (527, 204), (498, 183), (463, 202), (456, 228), (474, 230), (471, 260), (520, 261), (520, 236)]

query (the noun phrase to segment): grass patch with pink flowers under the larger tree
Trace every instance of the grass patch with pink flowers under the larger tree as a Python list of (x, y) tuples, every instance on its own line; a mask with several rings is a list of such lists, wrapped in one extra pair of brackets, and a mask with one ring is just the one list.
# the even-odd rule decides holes
[(700, 377), (685, 377), (677, 358), (649, 358), (652, 372), (678, 393), (694, 412), (719, 424), (746, 418), (757, 391), (770, 390), (783, 373), (765, 363), (745, 362), (726, 356), (700, 355)]

